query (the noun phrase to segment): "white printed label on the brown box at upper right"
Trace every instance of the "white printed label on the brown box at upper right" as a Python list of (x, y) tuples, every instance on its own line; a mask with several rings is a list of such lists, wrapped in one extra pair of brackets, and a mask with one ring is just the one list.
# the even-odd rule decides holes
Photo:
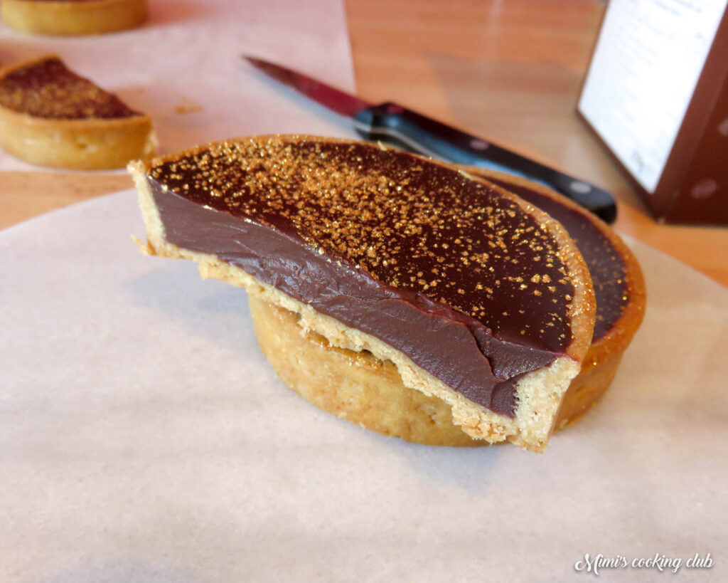
[(612, 0), (579, 111), (649, 192), (657, 187), (728, 0)]

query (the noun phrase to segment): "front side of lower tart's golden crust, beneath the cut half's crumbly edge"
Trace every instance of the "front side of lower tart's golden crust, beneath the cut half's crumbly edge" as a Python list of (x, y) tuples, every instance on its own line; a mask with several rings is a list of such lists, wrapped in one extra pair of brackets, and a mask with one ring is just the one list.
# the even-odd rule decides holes
[(397, 367), (368, 351), (332, 346), (295, 313), (250, 294), (253, 327), (280, 379), (320, 409), (365, 429), (424, 445), (488, 445), (453, 423), (450, 407), (405, 387)]

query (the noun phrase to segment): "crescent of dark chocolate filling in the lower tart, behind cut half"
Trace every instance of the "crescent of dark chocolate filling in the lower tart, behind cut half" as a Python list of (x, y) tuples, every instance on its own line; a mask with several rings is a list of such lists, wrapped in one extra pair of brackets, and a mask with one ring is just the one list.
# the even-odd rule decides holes
[(507, 176), (495, 177), (488, 174), (483, 177), (550, 214), (569, 232), (592, 276), (596, 297), (596, 322), (592, 341), (600, 340), (614, 328), (630, 300), (627, 266), (620, 251), (604, 234), (603, 228), (606, 226), (598, 227), (598, 219), (590, 216), (587, 211), (567, 206), (553, 195), (539, 192), (538, 187), (509, 180)]

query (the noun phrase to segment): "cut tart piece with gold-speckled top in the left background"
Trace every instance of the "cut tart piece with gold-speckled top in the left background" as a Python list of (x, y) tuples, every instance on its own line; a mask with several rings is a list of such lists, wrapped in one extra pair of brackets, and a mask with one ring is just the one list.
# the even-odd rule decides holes
[(0, 71), (0, 146), (41, 166), (123, 168), (157, 151), (151, 119), (55, 55)]

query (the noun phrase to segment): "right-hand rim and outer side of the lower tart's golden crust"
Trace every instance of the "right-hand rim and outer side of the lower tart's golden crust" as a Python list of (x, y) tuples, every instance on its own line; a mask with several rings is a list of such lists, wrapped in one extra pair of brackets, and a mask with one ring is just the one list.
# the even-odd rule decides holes
[(612, 230), (612, 227), (609, 227), (608, 224), (597, 216), (593, 216), (593, 214), (585, 211), (577, 203), (555, 192), (553, 189), (537, 182), (502, 172), (486, 171), (483, 168), (472, 168), (468, 166), (459, 166), (458, 168), (462, 168), (472, 176), (477, 174), (478, 179), (480, 179), (480, 176), (484, 176), (487, 181), (487, 177), (491, 176), (493, 179), (510, 181), (511, 184), (518, 184), (533, 189), (542, 195), (556, 200), (563, 206), (577, 211), (596, 225), (598, 230), (612, 243), (612, 246), (617, 250), (622, 262), (625, 264), (626, 280), (628, 283), (628, 304), (625, 305), (622, 316), (609, 329), (609, 332), (591, 343), (587, 355), (582, 362), (582, 370), (571, 381), (569, 391), (564, 396), (561, 411), (558, 413), (556, 429), (561, 429), (563, 426), (568, 425), (571, 421), (583, 415), (609, 388), (614, 379), (614, 375), (617, 374), (617, 368), (622, 360), (622, 354), (630, 345), (632, 338), (642, 323), (642, 318), (644, 318), (646, 289), (641, 267), (632, 251), (625, 245), (619, 235)]

